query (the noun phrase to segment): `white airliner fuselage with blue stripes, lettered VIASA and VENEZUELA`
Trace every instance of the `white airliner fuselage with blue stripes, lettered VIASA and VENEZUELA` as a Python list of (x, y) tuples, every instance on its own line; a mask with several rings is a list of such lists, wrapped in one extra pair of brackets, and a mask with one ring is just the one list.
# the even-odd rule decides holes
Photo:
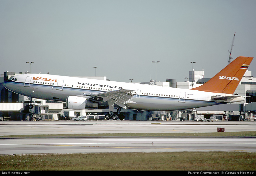
[(65, 102), (68, 96), (90, 95), (119, 89), (132, 90), (132, 101), (135, 103), (127, 103), (127, 108), (147, 111), (171, 111), (224, 104), (226, 102), (216, 103), (211, 99), (212, 96), (230, 96), (222, 93), (49, 74), (18, 75), (4, 82), (4, 87), (24, 96), (62, 102)]

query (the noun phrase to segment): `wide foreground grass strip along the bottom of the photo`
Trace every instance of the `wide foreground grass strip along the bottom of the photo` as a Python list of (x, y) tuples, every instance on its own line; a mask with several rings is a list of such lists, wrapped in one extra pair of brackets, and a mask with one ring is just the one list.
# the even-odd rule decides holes
[(256, 170), (255, 153), (163, 152), (1, 155), (0, 170)]

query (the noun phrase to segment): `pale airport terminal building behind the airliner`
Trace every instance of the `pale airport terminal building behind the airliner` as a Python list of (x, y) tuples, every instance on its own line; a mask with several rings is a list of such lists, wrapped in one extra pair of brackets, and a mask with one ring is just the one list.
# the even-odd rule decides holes
[[(29, 97), (13, 93), (3, 87), (3, 82), (13, 76), (25, 73), (4, 72), (0, 76), (0, 118), (10, 120), (65, 120), (72, 117), (87, 117), (91, 120), (103, 120), (108, 109), (93, 110), (72, 110), (67, 109), (65, 102), (42, 100), (33, 98), (33, 103)], [(107, 80), (106, 77), (81, 77)], [(204, 70), (189, 71), (189, 78), (185, 82), (176, 82), (175, 79), (167, 79), (166, 82), (142, 82), (152, 86), (160, 85), (165, 87), (176, 87), (191, 89), (207, 82), (209, 78), (204, 77)], [(137, 111), (131, 109), (121, 109), (125, 116), (124, 120), (196, 120), (209, 119), (213, 115), (219, 120), (254, 120), (256, 114), (256, 78), (251, 76), (251, 71), (246, 71), (234, 94), (248, 96), (246, 101), (215, 105), (202, 108), (188, 109), (184, 111)], [(115, 109), (116, 111), (116, 109)], [(0, 119), (0, 120), (1, 120)]]

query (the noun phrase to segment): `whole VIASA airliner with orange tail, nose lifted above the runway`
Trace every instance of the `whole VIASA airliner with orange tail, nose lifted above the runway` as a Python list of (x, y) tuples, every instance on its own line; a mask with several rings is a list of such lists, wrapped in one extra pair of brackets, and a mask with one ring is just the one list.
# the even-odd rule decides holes
[(243, 96), (233, 93), (252, 59), (238, 57), (208, 82), (189, 90), (50, 74), (14, 76), (4, 87), (31, 98), (66, 101), (68, 109), (109, 108), (106, 119), (123, 120), (121, 108), (172, 111), (243, 101)]

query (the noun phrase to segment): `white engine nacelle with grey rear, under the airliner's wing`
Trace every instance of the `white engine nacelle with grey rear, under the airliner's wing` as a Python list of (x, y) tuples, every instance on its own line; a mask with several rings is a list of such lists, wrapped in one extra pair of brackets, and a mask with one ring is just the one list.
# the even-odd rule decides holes
[(77, 96), (68, 96), (66, 99), (66, 106), (68, 109), (97, 109), (99, 107), (99, 103), (93, 102), (88, 98), (77, 97)]

